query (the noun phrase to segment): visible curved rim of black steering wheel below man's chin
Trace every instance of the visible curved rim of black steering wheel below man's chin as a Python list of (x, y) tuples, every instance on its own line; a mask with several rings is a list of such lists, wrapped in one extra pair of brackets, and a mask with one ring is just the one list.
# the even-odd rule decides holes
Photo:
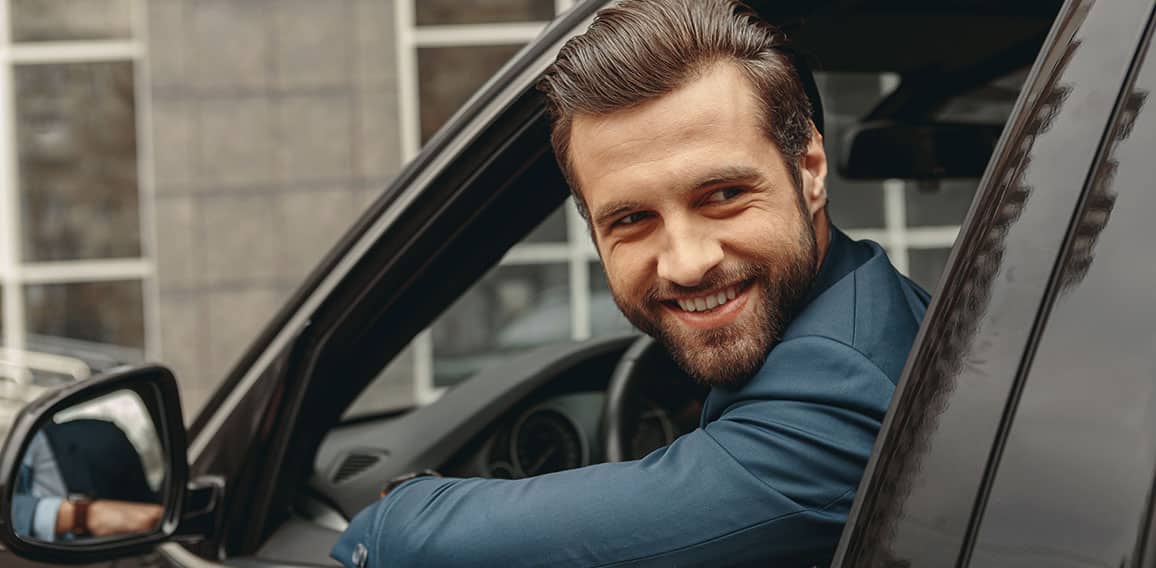
[(618, 360), (602, 405), (602, 448), (607, 462), (633, 459), (632, 445), (643, 411), (644, 386), (652, 377), (680, 372), (658, 341), (643, 335)]

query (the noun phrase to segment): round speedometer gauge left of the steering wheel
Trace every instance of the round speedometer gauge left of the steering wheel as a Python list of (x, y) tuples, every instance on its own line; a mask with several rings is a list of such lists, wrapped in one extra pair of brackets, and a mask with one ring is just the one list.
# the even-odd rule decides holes
[(526, 414), (514, 425), (511, 445), (513, 465), (525, 477), (572, 470), (583, 464), (578, 429), (557, 411)]

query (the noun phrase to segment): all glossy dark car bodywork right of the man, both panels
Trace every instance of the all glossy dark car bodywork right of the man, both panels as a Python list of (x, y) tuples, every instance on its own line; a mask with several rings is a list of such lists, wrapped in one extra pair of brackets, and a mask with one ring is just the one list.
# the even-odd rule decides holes
[[(1151, 334), (1114, 322), (1142, 308), (1102, 302), (1121, 298), (1106, 282), (1151, 280), (1133, 274), (1151, 263), (1132, 244), (1151, 242), (1134, 227), (1156, 211), (1150, 178), (1138, 177), (1149, 172), (1136, 171), (1150, 160), (1133, 157), (1151, 155), (1151, 125), (1135, 118), (1148, 75), (1134, 76), (1151, 12), (1150, 1), (1061, 10), (941, 279), (836, 565), (1117, 566), (1139, 546), (1153, 374), (1151, 345), (1136, 341)], [(1125, 148), (1128, 177), (1113, 157)], [(1125, 193), (1135, 196), (1120, 213)], [(1116, 437), (1124, 428), (1141, 434)], [(1084, 484), (1109, 472), (1122, 479)], [(1114, 524), (1098, 517), (1109, 509)]]

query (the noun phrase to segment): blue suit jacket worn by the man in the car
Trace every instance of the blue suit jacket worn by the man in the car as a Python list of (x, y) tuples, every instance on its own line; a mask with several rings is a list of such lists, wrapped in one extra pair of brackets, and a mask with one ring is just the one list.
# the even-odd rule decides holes
[[(637, 462), (521, 480), (418, 478), (333, 548), (356, 566), (825, 565), (927, 294), (838, 230), (766, 363)], [(363, 548), (363, 549), (358, 549)]]

